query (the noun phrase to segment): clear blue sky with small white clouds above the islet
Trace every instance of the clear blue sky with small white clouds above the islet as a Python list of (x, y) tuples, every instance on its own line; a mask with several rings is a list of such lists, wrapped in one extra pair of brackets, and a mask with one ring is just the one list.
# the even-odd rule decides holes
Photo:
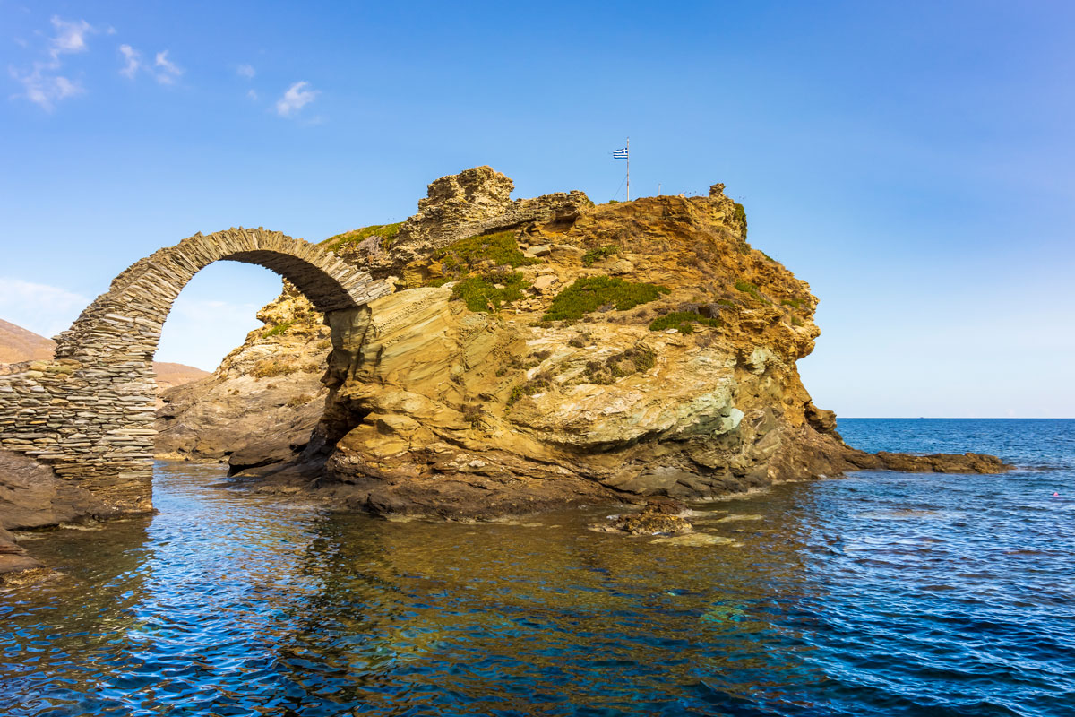
[[(1075, 5), (391, 4), (0, 0), (0, 318), (52, 334), (196, 231), (316, 241), (477, 164), (607, 200), (630, 135), (635, 195), (725, 182), (811, 283), (818, 405), (1075, 415)], [(277, 290), (207, 268), (158, 358), (211, 369)]]

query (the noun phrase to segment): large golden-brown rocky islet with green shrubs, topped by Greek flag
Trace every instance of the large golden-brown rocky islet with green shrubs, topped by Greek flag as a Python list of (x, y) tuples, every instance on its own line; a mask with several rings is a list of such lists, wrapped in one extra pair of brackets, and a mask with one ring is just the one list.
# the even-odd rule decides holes
[[(746, 243), (723, 185), (599, 206), (577, 192), (510, 202), (510, 189), (488, 168), (434, 182), (381, 263), (410, 288), (329, 318), (325, 415), (300, 460), (336, 504), (488, 517), (862, 468), (1007, 468), (845, 445), (796, 369), (819, 334), (817, 299)], [(264, 347), (252, 336), (235, 356)], [(296, 350), (276, 348), (282, 360)], [(195, 392), (191, 405), (204, 400)], [(192, 418), (183, 441), (202, 440), (201, 426)], [(236, 441), (243, 464), (280, 467), (284, 451)]]

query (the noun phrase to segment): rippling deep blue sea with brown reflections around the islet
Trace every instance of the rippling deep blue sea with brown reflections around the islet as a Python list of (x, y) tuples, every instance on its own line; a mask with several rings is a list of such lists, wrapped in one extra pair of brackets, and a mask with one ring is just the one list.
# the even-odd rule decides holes
[(1075, 715), (1075, 420), (840, 430), (1021, 468), (786, 484), (684, 545), (161, 463), (153, 518), (26, 534), (63, 574), (0, 592), (0, 715)]

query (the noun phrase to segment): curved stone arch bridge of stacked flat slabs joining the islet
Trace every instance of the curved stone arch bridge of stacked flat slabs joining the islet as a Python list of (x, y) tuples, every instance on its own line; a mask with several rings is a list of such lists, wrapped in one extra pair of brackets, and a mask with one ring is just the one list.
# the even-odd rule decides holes
[(153, 356), (172, 302), (214, 261), (260, 264), (326, 314), (391, 288), (309, 242), (264, 229), (194, 236), (132, 264), (56, 336), (56, 357), (0, 375), (0, 448), (32, 456), (111, 507), (152, 510)]

